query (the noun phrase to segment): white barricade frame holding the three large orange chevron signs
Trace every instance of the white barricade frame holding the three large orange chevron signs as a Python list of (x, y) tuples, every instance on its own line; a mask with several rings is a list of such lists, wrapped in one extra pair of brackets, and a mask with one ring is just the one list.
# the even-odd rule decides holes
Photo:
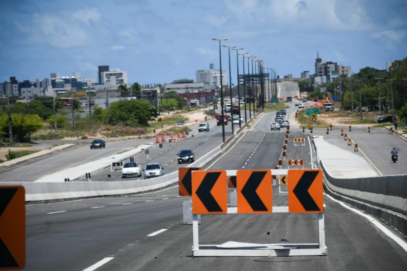
[[(272, 175), (286, 175), (287, 169), (272, 169)], [(227, 176), (236, 176), (237, 170), (226, 170)], [(237, 207), (228, 207), (226, 214), (237, 214)], [(289, 213), (288, 206), (273, 206), (272, 213)], [(192, 214), (193, 256), (210, 257), (275, 257), (275, 256), (326, 256), (324, 212), (318, 216), (318, 243), (255, 244), (226, 242), (221, 245), (199, 245), (199, 214)]]

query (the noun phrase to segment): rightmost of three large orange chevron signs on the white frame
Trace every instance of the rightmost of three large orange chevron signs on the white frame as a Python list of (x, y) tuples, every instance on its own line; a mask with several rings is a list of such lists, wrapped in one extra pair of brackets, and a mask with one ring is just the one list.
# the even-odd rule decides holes
[(324, 212), (321, 169), (289, 169), (288, 177), (288, 210), (290, 213)]

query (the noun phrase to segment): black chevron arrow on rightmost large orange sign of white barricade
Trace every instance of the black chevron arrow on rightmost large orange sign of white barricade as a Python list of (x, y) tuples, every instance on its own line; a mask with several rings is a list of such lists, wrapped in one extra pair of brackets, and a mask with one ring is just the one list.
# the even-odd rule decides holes
[(319, 211), (319, 207), (308, 193), (309, 187), (312, 185), (318, 171), (305, 171), (298, 181), (293, 192), (306, 211)]

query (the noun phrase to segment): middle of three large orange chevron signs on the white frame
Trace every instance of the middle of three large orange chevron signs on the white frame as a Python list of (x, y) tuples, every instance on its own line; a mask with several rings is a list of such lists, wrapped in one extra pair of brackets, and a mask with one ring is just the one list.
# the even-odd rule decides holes
[(236, 175), (238, 213), (271, 213), (271, 170), (238, 170)]

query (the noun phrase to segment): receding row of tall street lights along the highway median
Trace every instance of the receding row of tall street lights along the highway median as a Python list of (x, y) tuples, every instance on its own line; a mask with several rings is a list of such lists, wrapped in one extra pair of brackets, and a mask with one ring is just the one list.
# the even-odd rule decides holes
[[(222, 118), (224, 119), (224, 100), (223, 100), (223, 81), (222, 81), (222, 56), (221, 56), (221, 41), (227, 41), (226, 38), (223, 39), (217, 39), (213, 38), (212, 40), (218, 41), (219, 42), (219, 66), (220, 66), (220, 106), (221, 106), (221, 114)], [(239, 102), (239, 107), (240, 107), (240, 79), (239, 79), (239, 55), (243, 56), (243, 92), (244, 92), (244, 110), (245, 110), (245, 123), (247, 123), (247, 110), (246, 110), (246, 98), (247, 96), (249, 97), (249, 118), (251, 118), (252, 110), (251, 110), (251, 103), (253, 103), (253, 116), (255, 114), (255, 106), (254, 106), (254, 101), (256, 101), (256, 107), (257, 107), (257, 112), (259, 111), (259, 108), (264, 108), (265, 105), (265, 100), (266, 100), (266, 95), (265, 95), (265, 82), (266, 82), (266, 77), (265, 77), (265, 70), (269, 70), (270, 72), (268, 73), (268, 99), (270, 101), (270, 75), (271, 75), (271, 92), (272, 92), (272, 97), (277, 98), (277, 87), (276, 87), (276, 70), (273, 68), (267, 68), (264, 67), (264, 63), (261, 59), (256, 59), (256, 56), (249, 55), (245, 56), (249, 52), (245, 53), (239, 53), (239, 50), (243, 50), (243, 48), (237, 48), (236, 46), (227, 46), (227, 45), (222, 45), (223, 47), (228, 48), (228, 55), (229, 55), (229, 95), (230, 95), (230, 102), (232, 103), (232, 85), (231, 85), (231, 70), (230, 70), (230, 49), (236, 50), (236, 62), (237, 62), (237, 78), (238, 78), (238, 102)], [(246, 83), (246, 75), (245, 75), (245, 58), (247, 58), (247, 73), (248, 73), (248, 80)], [(252, 80), (250, 80), (250, 66), (249, 66), (249, 59), (251, 59), (251, 70), (252, 70)], [(257, 65), (254, 65), (253, 70), (253, 60), (254, 63), (257, 63)], [(257, 72), (258, 69), (258, 72)], [(253, 71), (255, 71), (255, 76), (253, 74)], [(273, 73), (271, 73), (273, 72)], [(254, 80), (255, 77), (255, 80)], [(251, 84), (251, 87), (250, 87)], [(254, 85), (256, 84), (256, 85)], [(246, 93), (246, 85), (248, 85), (247, 88), (247, 93)], [(258, 90), (259, 86), (259, 90)], [(255, 97), (253, 94), (253, 88), (255, 87)], [(231, 116), (232, 116), (233, 109), (231, 108)], [(239, 128), (241, 128), (241, 112), (239, 110)], [(234, 124), (233, 124), (233, 119), (231, 119), (231, 129), (232, 129), (232, 134), (234, 134), (235, 129), (234, 129)], [(222, 139), (223, 142), (225, 142), (225, 126), (224, 122), (222, 122)]]

